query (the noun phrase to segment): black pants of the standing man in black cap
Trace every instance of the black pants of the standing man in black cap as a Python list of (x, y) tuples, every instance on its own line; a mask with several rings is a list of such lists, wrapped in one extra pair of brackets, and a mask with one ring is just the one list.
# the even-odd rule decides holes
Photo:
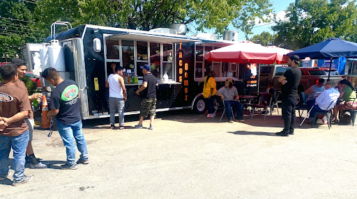
[(282, 97), (282, 119), (284, 120), (284, 132), (294, 132), (295, 126), (295, 106), (297, 96)]

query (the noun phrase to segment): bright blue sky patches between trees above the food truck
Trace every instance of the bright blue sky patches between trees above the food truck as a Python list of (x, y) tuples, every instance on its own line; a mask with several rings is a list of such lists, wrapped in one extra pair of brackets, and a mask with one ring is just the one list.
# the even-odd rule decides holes
[[(270, 0), (270, 1), (273, 4), (273, 13), (276, 13), (278, 18), (283, 18), (284, 10), (287, 9), (290, 3), (294, 3), (294, 0)], [(268, 31), (271, 34), (273, 34), (273, 31), (271, 30), (271, 26), (274, 25), (275, 24), (257, 24), (256, 22), (255, 27), (252, 29), (253, 34), (248, 35), (248, 37), (251, 38), (253, 35), (258, 35), (263, 31)], [(238, 31), (238, 40), (245, 40), (245, 34), (243, 32), (235, 29), (234, 26), (232, 25), (228, 26), (228, 28), (229, 31)], [(208, 33), (214, 33), (214, 30), (208, 31)]]

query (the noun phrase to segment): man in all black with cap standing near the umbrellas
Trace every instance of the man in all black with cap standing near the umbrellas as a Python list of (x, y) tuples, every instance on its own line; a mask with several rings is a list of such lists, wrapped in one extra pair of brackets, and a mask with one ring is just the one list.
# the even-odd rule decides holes
[(300, 58), (297, 55), (289, 56), (287, 65), (291, 67), (280, 78), (282, 83), (282, 118), (284, 129), (276, 133), (278, 136), (294, 135), (295, 125), (295, 106), (298, 100), (298, 84), (301, 79), (301, 70), (298, 68)]

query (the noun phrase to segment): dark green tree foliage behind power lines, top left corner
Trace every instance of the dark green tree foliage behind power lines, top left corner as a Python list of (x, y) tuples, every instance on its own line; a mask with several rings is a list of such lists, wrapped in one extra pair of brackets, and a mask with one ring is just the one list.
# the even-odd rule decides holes
[(36, 27), (33, 11), (36, 3), (20, 0), (0, 1), (0, 57), (20, 55), (25, 42), (43, 41), (43, 31)]

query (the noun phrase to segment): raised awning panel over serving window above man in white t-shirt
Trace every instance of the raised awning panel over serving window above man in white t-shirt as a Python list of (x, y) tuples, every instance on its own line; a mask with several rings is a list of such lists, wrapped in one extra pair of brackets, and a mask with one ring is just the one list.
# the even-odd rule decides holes
[(184, 42), (200, 42), (201, 40), (195, 38), (184, 38), (179, 35), (154, 35), (144, 33), (124, 32), (115, 35), (109, 35), (107, 38), (138, 40), (147, 42), (164, 42), (164, 43), (184, 43)]

